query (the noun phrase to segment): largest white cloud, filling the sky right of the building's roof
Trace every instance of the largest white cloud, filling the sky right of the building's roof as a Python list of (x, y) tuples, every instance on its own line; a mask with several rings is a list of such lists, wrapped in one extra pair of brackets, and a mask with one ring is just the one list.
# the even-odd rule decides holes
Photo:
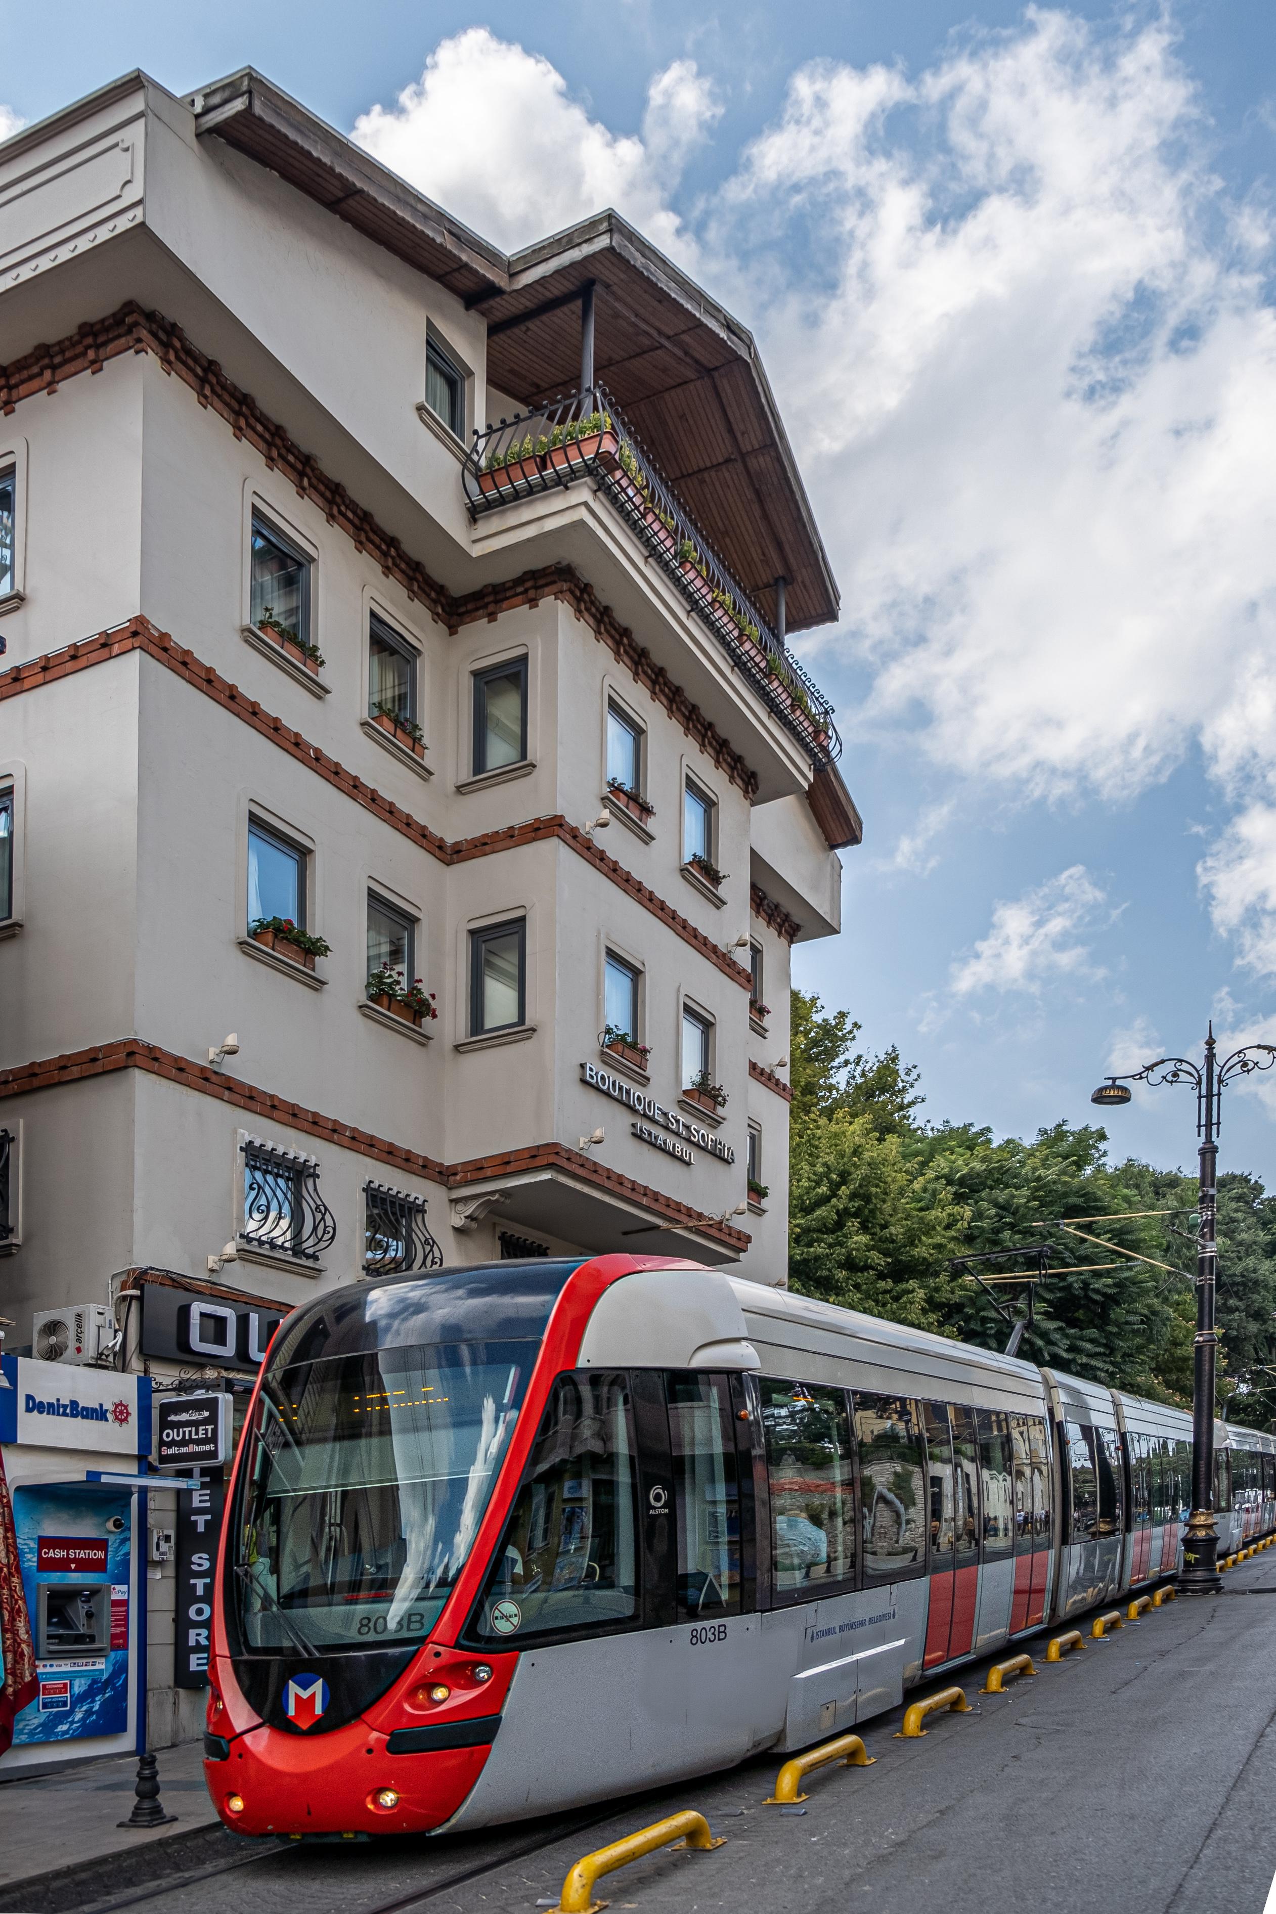
[(1270, 232), (1165, 23), (1029, 10), (916, 80), (805, 67), (725, 209), (723, 253), (815, 262), (771, 272), (763, 350), (859, 723), (1020, 796), (1133, 792), (1194, 735), (1232, 777), (1257, 720), (1276, 752)]

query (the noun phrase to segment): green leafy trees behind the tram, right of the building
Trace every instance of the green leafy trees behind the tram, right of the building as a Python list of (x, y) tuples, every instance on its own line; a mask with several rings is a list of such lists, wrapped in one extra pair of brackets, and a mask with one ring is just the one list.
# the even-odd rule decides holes
[[(949, 1263), (1045, 1242), (1050, 1273), (1020, 1353), (1190, 1403), (1196, 1179), (1134, 1158), (1113, 1166), (1106, 1131), (1090, 1124), (1058, 1122), (1031, 1143), (924, 1124), (918, 1072), (893, 1045), (865, 1055), (846, 1011), (826, 1014), (802, 991), (792, 1003), (790, 1286), (1001, 1349), (1010, 1324)], [(987, 1277), (1035, 1265), (1023, 1254), (979, 1267)], [(1022, 1313), (1025, 1290), (991, 1288)], [(1221, 1407), (1266, 1428), (1276, 1416), (1276, 1196), (1238, 1171), (1219, 1179), (1219, 1324)]]

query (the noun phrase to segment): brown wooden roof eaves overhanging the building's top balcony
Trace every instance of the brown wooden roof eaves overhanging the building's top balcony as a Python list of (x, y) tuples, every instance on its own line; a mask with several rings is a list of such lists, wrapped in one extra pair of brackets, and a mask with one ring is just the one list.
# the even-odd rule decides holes
[[(570, 295), (591, 279), (597, 379), (710, 545), (773, 628), (777, 578), (790, 632), (838, 616), (832, 567), (752, 335), (627, 220), (599, 212), (505, 255), (251, 67), (187, 103), (199, 134), (270, 167), (499, 327), (488, 383), (518, 406), (574, 390), (580, 302)], [(526, 325), (509, 323), (532, 310), (539, 316)]]

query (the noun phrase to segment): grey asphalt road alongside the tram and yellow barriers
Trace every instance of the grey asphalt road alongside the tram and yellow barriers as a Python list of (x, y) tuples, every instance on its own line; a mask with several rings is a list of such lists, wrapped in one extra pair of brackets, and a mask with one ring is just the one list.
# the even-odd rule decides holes
[[(1045, 1638), (1041, 1642), (1045, 1652)], [(231, 1836), (191, 1836), (191, 1868), (249, 1864), (145, 1901), (136, 1876), (63, 1880), (0, 1897), (0, 1914), (73, 1914), (111, 1903), (147, 1914), (536, 1914), (568, 1866), (681, 1807), (727, 1845), (666, 1851), (599, 1885), (635, 1914), (1263, 1914), (1276, 1876), (1276, 1548), (1224, 1579), (1089, 1642), (1004, 1696), (962, 1673), (968, 1715), (924, 1740), (899, 1715), (865, 1728), (870, 1769), (826, 1769), (805, 1813), (765, 1807), (779, 1759), (698, 1786), (557, 1822), (375, 1847), (287, 1847), (262, 1858)], [(176, 1855), (174, 1855), (176, 1858)], [(151, 1885), (155, 1881), (151, 1880)]]

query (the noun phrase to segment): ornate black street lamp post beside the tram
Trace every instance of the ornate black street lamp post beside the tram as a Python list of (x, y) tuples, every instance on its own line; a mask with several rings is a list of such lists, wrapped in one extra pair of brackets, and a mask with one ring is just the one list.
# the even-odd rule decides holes
[(1276, 1045), (1270, 1043), (1249, 1043), (1219, 1062), (1211, 1022), (1203, 1066), (1188, 1062), (1186, 1057), (1157, 1057), (1154, 1064), (1131, 1070), (1125, 1078), (1108, 1078), (1090, 1097), (1090, 1102), (1110, 1108), (1131, 1101), (1127, 1083), (1192, 1083), (1196, 1087), (1196, 1133), (1201, 1139), (1198, 1150), (1201, 1168), (1196, 1236), (1196, 1344), (1192, 1351), (1192, 1518), (1182, 1541), (1182, 1575), (1178, 1577), (1182, 1594), (1217, 1594), (1222, 1589), (1217, 1568), (1219, 1531), (1215, 1527), (1215, 1351), (1219, 1347), (1215, 1332), (1219, 1145), (1215, 1139), (1222, 1116), (1222, 1085), (1230, 1083), (1232, 1078), (1249, 1076), (1253, 1070), (1270, 1070), (1272, 1064), (1276, 1064)]

